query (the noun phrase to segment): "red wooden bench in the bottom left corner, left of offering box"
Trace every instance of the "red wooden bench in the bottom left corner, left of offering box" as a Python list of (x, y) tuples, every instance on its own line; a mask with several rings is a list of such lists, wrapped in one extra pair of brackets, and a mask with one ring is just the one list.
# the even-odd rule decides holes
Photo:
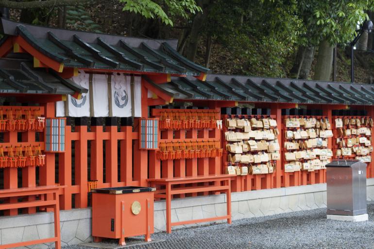
[[(46, 207), (52, 208), (54, 213), (54, 237), (46, 239), (38, 239), (25, 242), (17, 242), (13, 244), (0, 245), (0, 249), (24, 247), (35, 244), (54, 242), (56, 249), (61, 249), (60, 234), (60, 207), (59, 207), (59, 191), (63, 186), (43, 186), (34, 188), (19, 188), (0, 190), (0, 199), (19, 198), (27, 196), (35, 196), (35, 199), (22, 202), (11, 202), (0, 204), (0, 210), (11, 210), (18, 208), (30, 207)], [(48, 195), (48, 198), (47, 198)], [(52, 198), (50, 197), (52, 196)], [(26, 198), (25, 198), (26, 199)]]

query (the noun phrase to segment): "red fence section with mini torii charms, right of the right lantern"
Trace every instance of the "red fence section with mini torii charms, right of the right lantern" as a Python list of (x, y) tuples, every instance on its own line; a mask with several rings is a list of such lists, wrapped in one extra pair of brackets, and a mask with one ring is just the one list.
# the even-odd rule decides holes
[[(166, 115), (168, 114), (168, 115)], [(174, 117), (172, 117), (174, 114)], [(178, 115), (179, 114), (179, 115)], [(204, 144), (218, 143), (220, 147), (221, 129), (217, 127), (217, 120), (220, 120), (220, 108), (216, 109), (153, 109), (153, 117), (160, 118), (161, 139), (160, 143), (184, 144), (183, 150), (199, 150), (204, 148)], [(166, 116), (165, 116), (166, 115)], [(172, 124), (164, 125), (165, 119), (169, 119)], [(203, 125), (203, 121), (205, 124)], [(189, 124), (191, 122), (191, 124)], [(183, 125), (185, 123), (185, 125)], [(188, 125), (187, 125), (188, 123)], [(197, 124), (199, 123), (199, 124)], [(193, 142), (201, 143), (201, 148), (192, 148)], [(191, 146), (191, 148), (188, 148)], [(214, 149), (219, 149), (215, 146)], [(175, 149), (177, 152), (179, 149)], [(182, 152), (182, 151), (181, 151)], [(157, 151), (149, 152), (149, 178), (174, 178), (185, 176), (208, 176), (221, 174), (221, 157), (218, 154), (204, 157), (197, 153), (189, 153), (188, 157), (169, 158), (161, 160), (157, 156)], [(204, 193), (207, 195), (208, 193)], [(196, 196), (196, 193), (188, 194)], [(179, 195), (184, 197), (184, 194)]]

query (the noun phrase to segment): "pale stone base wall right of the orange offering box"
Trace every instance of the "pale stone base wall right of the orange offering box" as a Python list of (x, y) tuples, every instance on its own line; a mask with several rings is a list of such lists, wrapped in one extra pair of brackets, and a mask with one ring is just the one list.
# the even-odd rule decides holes
[[(236, 192), (231, 195), (233, 220), (326, 207), (326, 184)], [(367, 200), (374, 200), (374, 178), (367, 179)], [(226, 195), (199, 196), (171, 201), (171, 222), (226, 214)], [(165, 201), (154, 203), (154, 229), (166, 231)], [(219, 220), (215, 222), (226, 222)], [(179, 227), (198, 226), (188, 224)], [(206, 224), (206, 223), (205, 223)], [(178, 227), (173, 227), (174, 229)]]

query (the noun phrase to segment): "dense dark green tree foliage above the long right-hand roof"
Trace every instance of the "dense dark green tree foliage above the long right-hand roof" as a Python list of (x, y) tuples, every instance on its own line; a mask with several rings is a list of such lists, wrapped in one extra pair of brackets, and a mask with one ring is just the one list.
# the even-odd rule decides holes
[(235, 73), (285, 77), (288, 56), (306, 32), (294, 12), (282, 1), (218, 0), (205, 30), (238, 58)]

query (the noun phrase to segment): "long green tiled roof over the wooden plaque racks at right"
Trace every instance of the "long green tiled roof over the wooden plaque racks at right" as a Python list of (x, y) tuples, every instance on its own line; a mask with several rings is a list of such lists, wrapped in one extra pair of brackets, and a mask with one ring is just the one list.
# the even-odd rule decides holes
[(207, 74), (158, 85), (174, 99), (297, 104), (374, 105), (374, 85)]

